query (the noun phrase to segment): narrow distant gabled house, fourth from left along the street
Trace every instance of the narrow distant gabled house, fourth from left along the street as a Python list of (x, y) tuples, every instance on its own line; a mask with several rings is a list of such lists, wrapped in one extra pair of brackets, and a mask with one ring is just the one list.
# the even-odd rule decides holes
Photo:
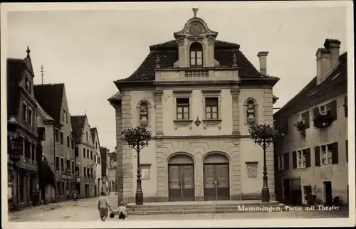
[(96, 127), (90, 128), (90, 133), (93, 139), (93, 143), (95, 146), (94, 149), (94, 163), (95, 163), (95, 195), (100, 196), (101, 187), (103, 183), (101, 182), (101, 154), (100, 154), (100, 141), (98, 129)]

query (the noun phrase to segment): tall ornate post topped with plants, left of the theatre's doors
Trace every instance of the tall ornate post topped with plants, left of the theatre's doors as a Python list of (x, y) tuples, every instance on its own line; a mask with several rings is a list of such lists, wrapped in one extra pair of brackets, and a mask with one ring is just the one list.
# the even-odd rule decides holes
[(148, 146), (152, 138), (150, 131), (144, 127), (125, 129), (122, 133), (122, 141), (127, 142), (128, 146), (137, 152), (137, 186), (136, 186), (136, 205), (143, 204), (143, 193), (141, 185), (140, 151)]

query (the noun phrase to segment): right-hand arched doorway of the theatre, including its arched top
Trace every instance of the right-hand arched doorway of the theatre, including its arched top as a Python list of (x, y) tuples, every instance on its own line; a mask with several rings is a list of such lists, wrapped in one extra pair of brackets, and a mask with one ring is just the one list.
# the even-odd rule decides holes
[(229, 159), (210, 154), (204, 159), (204, 201), (229, 200)]

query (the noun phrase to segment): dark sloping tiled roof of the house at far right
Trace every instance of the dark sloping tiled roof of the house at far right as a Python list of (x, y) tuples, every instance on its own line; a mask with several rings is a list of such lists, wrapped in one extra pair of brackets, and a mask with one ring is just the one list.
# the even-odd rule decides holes
[(300, 92), (295, 95), (273, 117), (286, 119), (300, 110), (316, 105), (332, 97), (347, 92), (347, 53), (339, 57), (340, 64), (330, 73), (328, 78), (316, 85), (316, 77), (313, 78)]

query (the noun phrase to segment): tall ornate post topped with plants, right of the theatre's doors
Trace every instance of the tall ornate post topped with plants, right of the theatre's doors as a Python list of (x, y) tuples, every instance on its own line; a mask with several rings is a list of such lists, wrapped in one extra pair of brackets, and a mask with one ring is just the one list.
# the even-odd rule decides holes
[(275, 127), (266, 124), (256, 124), (248, 129), (251, 134), (251, 139), (255, 144), (258, 144), (263, 149), (263, 186), (262, 186), (262, 202), (269, 202), (269, 189), (266, 165), (266, 149), (273, 142), (273, 139), (278, 136), (278, 131)]

